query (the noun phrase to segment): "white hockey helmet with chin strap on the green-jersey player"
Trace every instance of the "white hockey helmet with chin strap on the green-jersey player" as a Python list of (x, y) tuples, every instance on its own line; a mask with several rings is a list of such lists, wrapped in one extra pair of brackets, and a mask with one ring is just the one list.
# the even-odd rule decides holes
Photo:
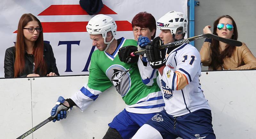
[[(110, 43), (114, 40), (116, 35), (116, 22), (114, 19), (110, 16), (104, 15), (104, 14), (98, 14), (94, 16), (87, 24), (86, 30), (89, 34), (92, 35), (98, 35), (102, 34), (102, 38), (104, 39), (104, 43), (108, 44), (107, 48), (104, 50), (106, 51), (108, 49), (108, 46)], [(111, 31), (113, 34), (113, 39), (110, 42), (106, 42), (107, 33)]]

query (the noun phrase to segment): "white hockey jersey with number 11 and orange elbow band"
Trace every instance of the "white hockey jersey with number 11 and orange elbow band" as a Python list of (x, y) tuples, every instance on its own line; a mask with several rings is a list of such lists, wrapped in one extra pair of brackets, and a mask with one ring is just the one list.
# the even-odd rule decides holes
[(201, 89), (200, 76), (201, 58), (194, 46), (185, 43), (169, 54), (166, 51), (166, 67), (159, 79), (168, 114), (176, 117), (210, 109)]

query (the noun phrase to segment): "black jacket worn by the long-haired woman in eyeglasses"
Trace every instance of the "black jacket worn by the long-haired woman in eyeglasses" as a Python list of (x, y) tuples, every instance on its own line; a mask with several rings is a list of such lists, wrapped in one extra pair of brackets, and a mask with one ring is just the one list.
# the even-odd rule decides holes
[[(52, 46), (44, 43), (44, 60), (47, 65), (46, 75), (50, 72), (54, 72), (56, 75), (60, 75), (56, 66), (56, 60), (53, 55)], [(7, 48), (4, 56), (4, 77), (14, 77), (14, 62), (15, 62), (15, 47)], [(34, 68), (34, 56), (25, 53), (25, 68), (18, 77), (27, 77), (28, 74), (33, 73)], [(39, 69), (37, 69), (39, 71)], [(39, 73), (39, 72), (38, 72)], [(46, 76), (41, 75), (40, 76)]]

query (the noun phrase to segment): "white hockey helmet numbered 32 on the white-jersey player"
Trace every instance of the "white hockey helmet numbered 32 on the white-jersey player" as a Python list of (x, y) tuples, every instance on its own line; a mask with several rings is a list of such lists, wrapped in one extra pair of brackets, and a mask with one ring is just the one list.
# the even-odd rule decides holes
[(169, 29), (172, 35), (175, 35), (177, 31), (181, 31), (178, 34), (187, 33), (188, 18), (182, 12), (169, 11), (159, 20), (157, 20), (156, 26), (159, 29)]

